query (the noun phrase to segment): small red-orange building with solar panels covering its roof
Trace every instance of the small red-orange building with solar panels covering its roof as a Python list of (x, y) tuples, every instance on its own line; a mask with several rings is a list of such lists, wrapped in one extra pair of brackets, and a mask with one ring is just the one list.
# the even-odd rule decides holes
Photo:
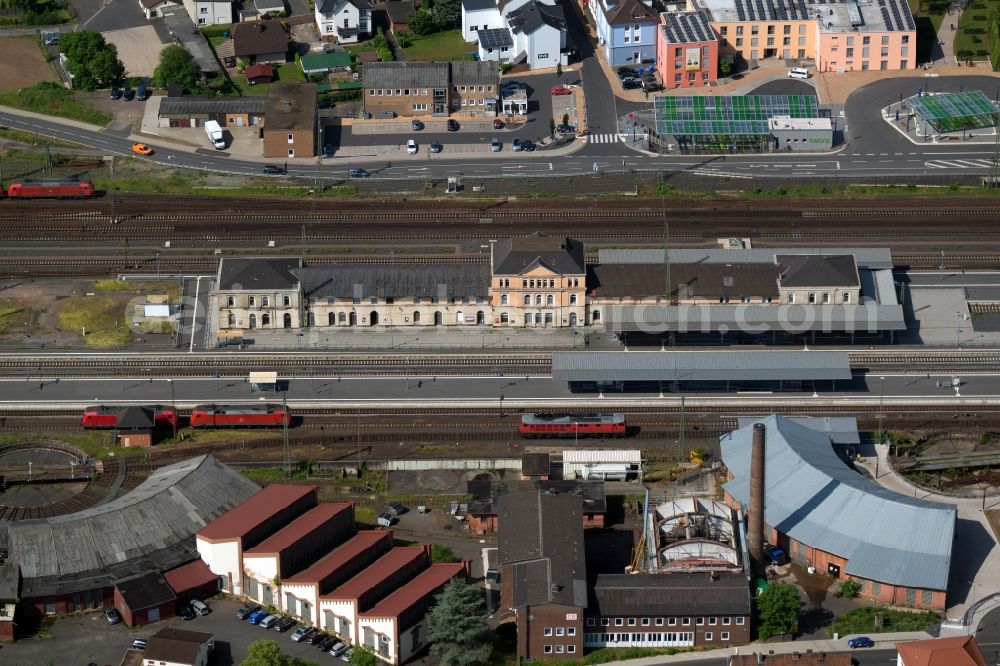
[(719, 76), (719, 38), (705, 10), (664, 12), (656, 31), (656, 71), (663, 87), (713, 85)]

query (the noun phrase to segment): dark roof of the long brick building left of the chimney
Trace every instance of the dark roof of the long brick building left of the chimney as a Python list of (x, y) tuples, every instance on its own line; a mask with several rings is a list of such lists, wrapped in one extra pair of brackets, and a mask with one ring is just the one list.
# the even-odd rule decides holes
[(583, 498), (543, 492), (503, 495), (498, 503), (499, 556), (510, 565), (511, 607), (587, 607)]

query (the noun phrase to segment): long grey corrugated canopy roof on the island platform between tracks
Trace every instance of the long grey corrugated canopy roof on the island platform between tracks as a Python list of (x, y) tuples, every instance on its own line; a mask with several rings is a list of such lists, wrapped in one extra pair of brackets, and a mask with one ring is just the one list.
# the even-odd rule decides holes
[(556, 352), (552, 378), (586, 381), (850, 379), (847, 352)]

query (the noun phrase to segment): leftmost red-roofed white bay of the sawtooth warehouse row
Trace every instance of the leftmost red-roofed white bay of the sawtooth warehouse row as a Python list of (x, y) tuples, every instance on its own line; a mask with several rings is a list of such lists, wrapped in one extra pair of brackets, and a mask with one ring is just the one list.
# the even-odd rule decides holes
[(272, 484), (227, 511), (195, 535), (198, 554), (225, 578), (225, 589), (243, 593), (243, 552), (257, 546), (316, 506), (316, 486)]

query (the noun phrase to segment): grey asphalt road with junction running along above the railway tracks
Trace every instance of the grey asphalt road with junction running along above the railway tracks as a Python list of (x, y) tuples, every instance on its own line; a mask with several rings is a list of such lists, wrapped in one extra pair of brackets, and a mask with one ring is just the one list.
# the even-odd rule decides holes
[[(588, 87), (590, 122), (598, 129), (607, 123), (613, 131), (616, 111), (623, 106), (610, 94), (602, 94), (608, 86), (593, 59), (584, 62), (582, 77)], [(428, 160), (424, 155), (394, 157), (391, 161), (368, 158), (333, 158), (318, 166), (313, 160), (289, 163), (289, 175), (308, 179), (342, 180), (348, 166), (363, 166), (374, 178), (399, 180), (443, 179), (447, 176), (470, 177), (561, 176), (582, 175), (594, 171), (693, 171), (702, 175), (748, 178), (778, 176), (808, 178), (810, 176), (916, 176), (947, 173), (985, 173), (992, 158), (993, 146), (953, 142), (946, 145), (914, 145), (899, 136), (879, 117), (880, 108), (898, 102), (900, 91), (915, 92), (927, 79), (908, 77), (887, 79), (871, 84), (855, 93), (846, 105), (850, 143), (833, 154), (773, 154), (773, 155), (671, 155), (650, 156), (630, 150), (620, 143), (588, 143), (582, 149), (562, 156), (552, 156), (544, 150), (531, 154), (504, 151), (449, 155), (447, 151)], [(992, 91), (996, 79), (989, 77), (951, 77), (933, 79), (938, 90), (959, 90), (978, 87)], [(607, 118), (605, 121), (604, 118)], [(37, 132), (46, 136), (75, 141), (106, 151), (108, 154), (131, 155), (131, 141), (106, 131), (91, 131), (60, 124), (48, 119), (25, 118), (12, 113), (0, 113), (4, 126)], [(194, 153), (158, 147), (155, 140), (147, 141), (157, 149), (150, 160), (168, 166), (199, 170), (214, 170), (236, 174), (259, 175), (259, 162), (233, 159), (225, 153), (199, 149)], [(595, 164), (596, 163), (596, 164)]]

